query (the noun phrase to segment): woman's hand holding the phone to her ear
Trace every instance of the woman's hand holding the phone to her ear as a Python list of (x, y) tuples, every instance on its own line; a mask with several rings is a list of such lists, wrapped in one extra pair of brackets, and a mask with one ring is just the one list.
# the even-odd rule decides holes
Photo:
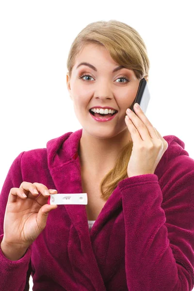
[[(135, 103), (137, 104), (137, 103)], [(127, 113), (129, 120), (125, 118), (129, 129), (133, 148), (128, 164), (128, 177), (154, 174), (168, 143), (155, 129), (141, 108), (134, 106), (134, 112)]]

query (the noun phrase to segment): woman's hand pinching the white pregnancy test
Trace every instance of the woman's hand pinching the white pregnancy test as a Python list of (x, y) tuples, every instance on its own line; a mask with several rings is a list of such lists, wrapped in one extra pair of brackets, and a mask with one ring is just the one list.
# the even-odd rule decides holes
[[(35, 190), (40, 194), (35, 194)], [(10, 190), (3, 225), (6, 245), (27, 249), (43, 231), (49, 211), (57, 208), (57, 205), (47, 204), (49, 195), (45, 190), (48, 191), (45, 185), (29, 182)], [(49, 193), (57, 194), (57, 190), (49, 189)]]

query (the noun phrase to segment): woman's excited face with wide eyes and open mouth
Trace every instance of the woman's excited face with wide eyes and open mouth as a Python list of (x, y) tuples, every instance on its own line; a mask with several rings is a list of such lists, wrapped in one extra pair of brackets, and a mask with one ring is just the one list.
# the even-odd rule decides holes
[[(78, 67), (81, 62), (93, 65), (96, 70), (87, 65)], [(123, 130), (129, 134), (125, 123), (126, 110), (136, 97), (140, 81), (127, 68), (113, 72), (117, 66), (105, 47), (88, 44), (75, 60), (71, 80), (67, 73), (67, 88), (83, 131), (98, 138), (111, 138)], [(89, 77), (80, 79), (83, 75)], [(89, 113), (94, 106), (110, 106), (118, 113), (110, 121), (98, 122)]]

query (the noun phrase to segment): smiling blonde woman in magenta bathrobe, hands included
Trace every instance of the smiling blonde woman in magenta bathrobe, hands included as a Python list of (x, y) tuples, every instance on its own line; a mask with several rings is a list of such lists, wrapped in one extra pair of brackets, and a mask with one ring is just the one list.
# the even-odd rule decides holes
[[(141, 108), (127, 112), (148, 81), (144, 41), (125, 23), (91, 23), (67, 68), (82, 129), (11, 165), (0, 195), (0, 290), (29, 290), (31, 274), (33, 290), (192, 290), (194, 160)], [(88, 204), (48, 204), (57, 193), (87, 193)]]

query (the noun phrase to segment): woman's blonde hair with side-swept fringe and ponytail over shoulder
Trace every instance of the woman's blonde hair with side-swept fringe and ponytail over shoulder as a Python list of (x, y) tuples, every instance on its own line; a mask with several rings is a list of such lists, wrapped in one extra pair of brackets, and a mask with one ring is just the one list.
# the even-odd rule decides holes
[[(74, 39), (67, 58), (69, 79), (71, 78), (75, 58), (87, 44), (104, 46), (117, 64), (133, 70), (138, 80), (145, 78), (148, 82), (150, 64), (146, 45), (135, 29), (117, 20), (93, 22), (81, 30)], [(134, 102), (131, 105), (131, 109), (133, 105)], [(128, 178), (127, 168), (132, 146), (132, 141), (129, 141), (122, 148), (113, 169), (102, 179), (100, 191), (102, 193), (101, 198), (104, 201), (107, 201), (111, 196), (118, 182)]]

